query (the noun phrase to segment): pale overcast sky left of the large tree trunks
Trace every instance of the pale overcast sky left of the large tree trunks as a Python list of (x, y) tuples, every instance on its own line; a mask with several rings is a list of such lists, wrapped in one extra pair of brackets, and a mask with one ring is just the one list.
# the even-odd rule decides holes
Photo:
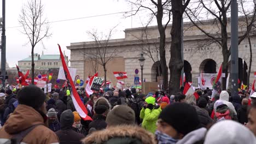
[[(6, 37), (7, 37), (7, 62), (9, 67), (14, 67), (18, 61), (28, 57), (31, 53), (31, 46), (27, 44), (26, 35), (22, 34), (22, 27), (18, 21), (22, 4), (28, 0), (6, 0)], [(2, 17), (2, 2), (0, 2), (0, 17)], [(126, 17), (123, 14), (113, 14), (122, 11), (131, 10), (131, 4), (126, 1), (118, 0), (42, 0), (44, 4), (44, 15), (50, 23), (50, 32), (52, 36), (49, 39), (44, 39), (43, 49), (42, 43), (39, 43), (34, 50), (35, 53), (42, 54), (59, 54), (57, 44), (59, 43), (62, 50), (65, 50), (66, 55), (70, 58), (70, 51), (66, 46), (70, 43), (88, 41), (90, 38), (86, 34), (91, 29), (97, 29), (99, 32), (108, 32), (110, 28), (118, 25), (115, 28), (113, 38), (124, 38), (124, 29), (132, 27), (141, 27), (141, 21), (147, 21), (147, 17), (143, 17), (146, 11), (137, 16), (133, 16), (131, 25), (131, 17)], [(97, 16), (105, 15), (105, 16)], [(129, 15), (129, 14), (126, 14)], [(90, 17), (95, 16), (95, 17)], [(88, 17), (78, 20), (80, 17)], [(68, 21), (61, 21), (68, 20)], [(61, 21), (61, 22), (53, 22)]]

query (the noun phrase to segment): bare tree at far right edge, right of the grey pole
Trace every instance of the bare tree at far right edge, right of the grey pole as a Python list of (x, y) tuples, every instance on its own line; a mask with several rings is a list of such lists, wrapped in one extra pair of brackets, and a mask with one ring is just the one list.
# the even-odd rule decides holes
[(248, 77), (247, 77), (247, 86), (249, 86), (250, 83), (250, 74), (251, 74), (251, 68), (252, 68), (252, 41), (251, 41), (251, 35), (255, 34), (254, 31), (251, 31), (251, 29), (255, 29), (255, 13), (256, 13), (256, 3), (253, 1), (253, 9), (245, 9), (245, 0), (240, 0), (239, 1), (241, 8), (239, 13), (241, 13), (245, 19), (244, 25), (241, 25), (241, 31), (243, 28), (246, 27), (247, 35), (246, 38), (249, 43), (249, 50), (250, 50), (250, 60), (249, 60), (249, 70), (248, 70)]

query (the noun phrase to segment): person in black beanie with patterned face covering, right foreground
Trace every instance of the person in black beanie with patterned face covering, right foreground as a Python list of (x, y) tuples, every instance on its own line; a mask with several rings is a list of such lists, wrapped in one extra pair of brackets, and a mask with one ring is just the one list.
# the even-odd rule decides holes
[[(168, 105), (161, 112), (158, 119), (158, 129), (155, 134), (158, 143), (172, 144), (199, 128), (201, 128), (201, 124), (194, 107), (185, 103), (174, 103)], [(196, 131), (197, 139), (194, 139), (194, 141), (201, 141), (205, 133), (205, 128)], [(187, 141), (189, 138), (186, 137), (185, 140)], [(186, 141), (183, 140), (179, 143), (185, 143)]]

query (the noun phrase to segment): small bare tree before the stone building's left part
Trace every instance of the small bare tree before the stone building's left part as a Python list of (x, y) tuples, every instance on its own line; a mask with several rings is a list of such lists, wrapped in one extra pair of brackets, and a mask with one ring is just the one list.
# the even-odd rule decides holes
[[(115, 27), (114, 27), (115, 28)], [(90, 59), (94, 64), (99, 64), (104, 70), (104, 86), (107, 82), (107, 64), (118, 55), (118, 47), (108, 47), (109, 40), (112, 37), (113, 29), (110, 29), (108, 35), (98, 34), (97, 31), (88, 32), (88, 35), (94, 39), (92, 48), (80, 51), (85, 58)]]

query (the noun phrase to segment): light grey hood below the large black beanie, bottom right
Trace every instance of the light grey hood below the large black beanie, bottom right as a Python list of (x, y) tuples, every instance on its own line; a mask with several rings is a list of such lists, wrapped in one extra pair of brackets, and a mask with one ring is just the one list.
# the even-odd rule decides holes
[(201, 141), (205, 138), (206, 128), (200, 128), (194, 131), (191, 131), (183, 139), (179, 140), (176, 144), (193, 144), (195, 142)]

